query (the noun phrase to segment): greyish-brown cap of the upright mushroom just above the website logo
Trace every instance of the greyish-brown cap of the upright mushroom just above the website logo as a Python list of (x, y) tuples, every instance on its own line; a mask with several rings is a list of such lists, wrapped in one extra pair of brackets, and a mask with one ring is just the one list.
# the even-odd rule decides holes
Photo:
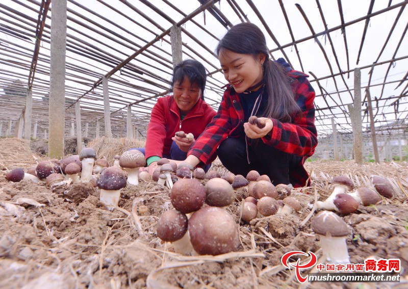
[(348, 235), (346, 222), (330, 211), (321, 211), (316, 214), (310, 225), (312, 230), (319, 235), (331, 237), (344, 237)]

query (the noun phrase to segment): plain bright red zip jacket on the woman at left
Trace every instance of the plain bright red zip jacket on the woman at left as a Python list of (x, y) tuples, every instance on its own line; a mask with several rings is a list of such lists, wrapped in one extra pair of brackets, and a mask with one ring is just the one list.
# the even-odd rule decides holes
[(183, 130), (186, 134), (192, 133), (194, 138), (204, 131), (207, 124), (216, 112), (201, 98), (195, 106), (180, 121), (180, 110), (172, 95), (161, 97), (151, 111), (147, 126), (146, 159), (150, 156), (170, 154), (171, 138), (176, 132)]

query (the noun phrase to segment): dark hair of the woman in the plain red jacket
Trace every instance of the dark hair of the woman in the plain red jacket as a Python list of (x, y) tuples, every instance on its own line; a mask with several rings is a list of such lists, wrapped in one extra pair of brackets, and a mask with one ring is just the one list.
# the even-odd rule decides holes
[(181, 84), (187, 77), (190, 83), (196, 84), (201, 90), (201, 99), (204, 99), (204, 89), (206, 88), (207, 74), (206, 68), (199, 61), (194, 59), (186, 59), (174, 66), (173, 77), (170, 82), (170, 93), (173, 92), (173, 87), (176, 84)]

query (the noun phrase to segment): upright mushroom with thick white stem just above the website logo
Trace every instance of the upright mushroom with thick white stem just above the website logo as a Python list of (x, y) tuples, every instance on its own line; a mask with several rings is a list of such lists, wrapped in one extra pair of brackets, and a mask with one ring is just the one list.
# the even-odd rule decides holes
[(334, 264), (350, 262), (346, 244), (348, 228), (342, 218), (333, 212), (321, 211), (312, 220), (311, 228), (319, 235), (320, 246), (328, 262)]

